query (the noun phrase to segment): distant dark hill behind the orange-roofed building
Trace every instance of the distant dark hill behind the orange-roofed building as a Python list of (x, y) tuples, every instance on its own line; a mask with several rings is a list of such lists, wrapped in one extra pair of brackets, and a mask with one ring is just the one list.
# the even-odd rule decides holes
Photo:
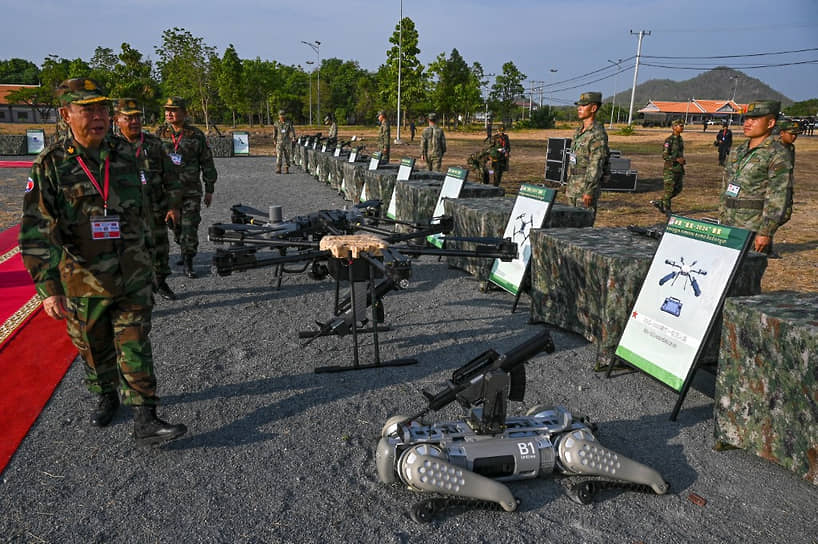
[[(731, 79), (738, 77), (738, 84)], [(670, 79), (651, 79), (636, 86), (634, 111), (645, 107), (649, 100), (668, 100), (684, 102), (691, 98), (703, 100), (730, 99), (733, 96), (733, 86), (736, 86), (736, 102), (746, 104), (753, 100), (780, 100), (782, 108), (792, 104), (792, 100), (770, 88), (766, 83), (744, 72), (720, 66), (709, 72), (686, 81), (672, 81)], [(606, 97), (605, 101), (610, 100)], [(631, 90), (616, 94), (617, 104), (629, 104)]]

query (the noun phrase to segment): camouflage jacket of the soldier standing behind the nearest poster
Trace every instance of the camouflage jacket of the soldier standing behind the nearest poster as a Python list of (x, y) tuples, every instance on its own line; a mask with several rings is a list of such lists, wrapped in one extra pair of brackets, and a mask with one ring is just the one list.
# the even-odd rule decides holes
[[(733, 148), (722, 182), (719, 221), (772, 236), (784, 223), (792, 162), (772, 136), (749, 149), (749, 140)], [(738, 187), (738, 193), (728, 189)], [(736, 196), (732, 196), (735, 194)]]

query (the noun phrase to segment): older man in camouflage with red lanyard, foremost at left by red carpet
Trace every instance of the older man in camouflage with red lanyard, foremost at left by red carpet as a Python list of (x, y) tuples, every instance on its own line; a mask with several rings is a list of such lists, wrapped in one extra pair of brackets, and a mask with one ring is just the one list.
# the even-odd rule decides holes
[(108, 425), (121, 394), (134, 407), (139, 443), (177, 438), (185, 426), (156, 417), (150, 204), (136, 157), (109, 134), (110, 103), (94, 81), (66, 80), (57, 97), (72, 136), (34, 161), (20, 228), (23, 263), (46, 314), (66, 320), (85, 362), (88, 389), (98, 396), (91, 423)]

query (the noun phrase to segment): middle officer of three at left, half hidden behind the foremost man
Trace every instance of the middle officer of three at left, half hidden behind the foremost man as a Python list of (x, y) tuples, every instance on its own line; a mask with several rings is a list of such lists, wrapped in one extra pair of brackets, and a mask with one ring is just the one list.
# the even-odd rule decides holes
[(134, 150), (139, 181), (151, 203), (154, 291), (163, 298), (176, 300), (176, 294), (167, 283), (170, 244), (166, 223), (176, 224), (181, 218), (182, 185), (170, 157), (162, 148), (162, 140), (142, 131), (142, 111), (136, 100), (120, 98), (114, 103), (114, 124)]

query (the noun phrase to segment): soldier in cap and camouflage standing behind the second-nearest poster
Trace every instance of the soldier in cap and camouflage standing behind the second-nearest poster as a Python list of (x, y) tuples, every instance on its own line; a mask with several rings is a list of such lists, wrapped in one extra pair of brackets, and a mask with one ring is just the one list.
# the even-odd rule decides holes
[(574, 132), (565, 186), (568, 203), (593, 210), (595, 217), (602, 191), (602, 174), (608, 160), (608, 133), (603, 124), (596, 120), (601, 104), (602, 93), (597, 92), (582, 93), (575, 102), (582, 124)]

